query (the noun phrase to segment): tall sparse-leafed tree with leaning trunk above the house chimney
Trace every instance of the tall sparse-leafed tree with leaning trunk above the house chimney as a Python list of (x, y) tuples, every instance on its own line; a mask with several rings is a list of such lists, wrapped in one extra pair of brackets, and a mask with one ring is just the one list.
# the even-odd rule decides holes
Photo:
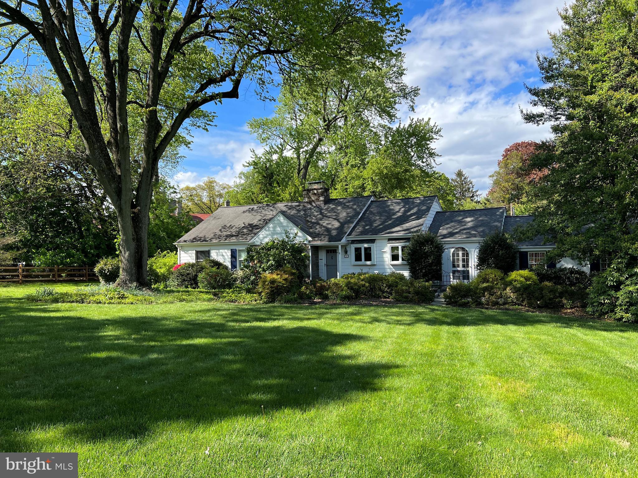
[(404, 73), (403, 55), (389, 51), (375, 63), (357, 62), (345, 71), (290, 77), (276, 114), (251, 120), (249, 129), (264, 145), (295, 157), (303, 185), (311, 166), (327, 154), (378, 142), (383, 134), (378, 128), (397, 120), (397, 105), (413, 108), (419, 89), (404, 83)]

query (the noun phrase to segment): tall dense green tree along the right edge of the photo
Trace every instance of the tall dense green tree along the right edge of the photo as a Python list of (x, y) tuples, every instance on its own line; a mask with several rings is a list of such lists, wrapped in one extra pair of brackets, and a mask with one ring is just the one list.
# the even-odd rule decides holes
[(588, 259), (638, 243), (638, 15), (632, 0), (575, 0), (540, 55), (543, 87), (526, 121), (553, 138), (530, 170), (546, 170), (533, 194), (535, 230), (556, 255)]

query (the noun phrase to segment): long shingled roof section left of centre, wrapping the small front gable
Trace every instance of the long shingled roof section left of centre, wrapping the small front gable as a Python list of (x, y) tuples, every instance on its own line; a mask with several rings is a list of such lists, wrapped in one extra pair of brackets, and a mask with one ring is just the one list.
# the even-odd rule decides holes
[(361, 196), (328, 199), (323, 205), (300, 201), (223, 206), (177, 242), (249, 241), (278, 212), (286, 214), (288, 221), (299, 226), (304, 233), (313, 238), (312, 242), (339, 242), (357, 220), (370, 198)]

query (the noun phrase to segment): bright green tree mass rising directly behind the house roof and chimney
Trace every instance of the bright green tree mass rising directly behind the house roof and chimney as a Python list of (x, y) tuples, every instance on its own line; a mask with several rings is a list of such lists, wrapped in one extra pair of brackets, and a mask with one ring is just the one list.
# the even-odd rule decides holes
[(393, 126), (397, 107), (413, 110), (419, 92), (404, 83), (404, 73), (403, 55), (389, 52), (376, 64), (353, 64), (345, 76), (290, 79), (276, 115), (249, 122), (265, 150), (246, 163), (232, 202), (296, 201), (308, 180), (324, 180), (332, 197), (399, 198), (436, 189), (440, 128), (429, 119)]

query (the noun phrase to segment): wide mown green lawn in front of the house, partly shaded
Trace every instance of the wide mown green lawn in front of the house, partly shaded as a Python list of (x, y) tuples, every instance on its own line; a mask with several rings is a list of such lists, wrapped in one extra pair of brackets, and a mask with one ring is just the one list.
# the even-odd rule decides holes
[(632, 324), (33, 288), (0, 287), (0, 451), (82, 477), (638, 475)]

